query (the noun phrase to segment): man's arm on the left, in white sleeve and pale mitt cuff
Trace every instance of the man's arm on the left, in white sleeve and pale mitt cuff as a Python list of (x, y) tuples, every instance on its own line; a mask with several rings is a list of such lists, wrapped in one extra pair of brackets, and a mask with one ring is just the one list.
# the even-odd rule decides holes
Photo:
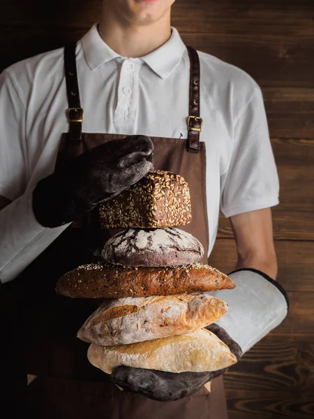
[(33, 214), (25, 136), (27, 91), (27, 85), (17, 84), (14, 71), (0, 74), (1, 283), (17, 277), (65, 229), (44, 228)]

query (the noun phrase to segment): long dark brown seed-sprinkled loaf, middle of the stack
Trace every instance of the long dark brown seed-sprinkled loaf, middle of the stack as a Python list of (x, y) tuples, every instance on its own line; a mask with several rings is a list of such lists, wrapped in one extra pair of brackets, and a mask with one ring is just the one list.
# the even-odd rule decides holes
[(234, 288), (216, 268), (201, 263), (167, 267), (126, 267), (91, 263), (66, 273), (56, 291), (67, 297), (123, 298), (174, 295)]

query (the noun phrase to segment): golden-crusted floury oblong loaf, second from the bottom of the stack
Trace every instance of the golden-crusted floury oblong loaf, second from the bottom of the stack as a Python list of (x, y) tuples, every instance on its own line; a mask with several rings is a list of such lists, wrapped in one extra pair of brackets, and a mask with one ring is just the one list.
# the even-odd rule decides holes
[(109, 346), (184, 335), (214, 323), (227, 309), (223, 300), (201, 293), (107, 300), (77, 337)]

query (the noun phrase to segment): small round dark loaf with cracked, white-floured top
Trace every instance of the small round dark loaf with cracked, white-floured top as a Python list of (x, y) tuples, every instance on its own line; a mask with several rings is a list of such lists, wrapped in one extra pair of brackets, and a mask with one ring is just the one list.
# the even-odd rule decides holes
[(107, 241), (102, 257), (126, 266), (191, 265), (204, 249), (196, 237), (179, 228), (128, 228)]

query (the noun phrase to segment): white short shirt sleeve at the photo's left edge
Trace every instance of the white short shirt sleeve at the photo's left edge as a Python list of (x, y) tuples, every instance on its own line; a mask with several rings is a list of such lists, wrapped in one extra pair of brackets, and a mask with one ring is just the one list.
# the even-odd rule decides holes
[(27, 186), (25, 110), (8, 71), (0, 75), (0, 195), (15, 200)]

